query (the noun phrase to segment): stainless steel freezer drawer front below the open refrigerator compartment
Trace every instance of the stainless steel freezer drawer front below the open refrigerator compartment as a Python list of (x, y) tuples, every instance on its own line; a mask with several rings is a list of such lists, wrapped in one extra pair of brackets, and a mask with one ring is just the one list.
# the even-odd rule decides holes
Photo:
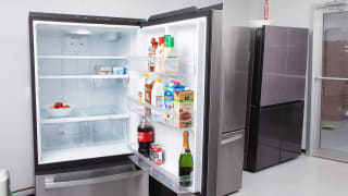
[(148, 196), (149, 175), (133, 164), (36, 175), (36, 196)]

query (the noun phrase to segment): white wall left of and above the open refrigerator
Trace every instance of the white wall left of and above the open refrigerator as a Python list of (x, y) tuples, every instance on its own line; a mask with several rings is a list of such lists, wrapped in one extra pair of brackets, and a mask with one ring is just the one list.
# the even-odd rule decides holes
[(119, 17), (150, 14), (220, 0), (1, 0), (0, 168), (11, 172), (11, 188), (34, 185), (28, 12)]

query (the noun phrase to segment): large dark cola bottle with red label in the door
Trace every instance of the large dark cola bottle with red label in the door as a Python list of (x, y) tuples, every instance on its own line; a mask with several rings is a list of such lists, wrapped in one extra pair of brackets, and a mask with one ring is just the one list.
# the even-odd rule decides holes
[(138, 151), (145, 157), (149, 157), (150, 144), (153, 143), (153, 126), (146, 120), (145, 117), (142, 117), (138, 126)]

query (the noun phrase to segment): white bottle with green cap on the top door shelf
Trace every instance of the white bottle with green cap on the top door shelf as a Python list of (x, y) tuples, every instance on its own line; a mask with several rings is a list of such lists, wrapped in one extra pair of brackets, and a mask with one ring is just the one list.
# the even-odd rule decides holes
[(166, 49), (163, 54), (163, 73), (178, 73), (178, 59), (174, 49), (174, 37), (166, 38)]

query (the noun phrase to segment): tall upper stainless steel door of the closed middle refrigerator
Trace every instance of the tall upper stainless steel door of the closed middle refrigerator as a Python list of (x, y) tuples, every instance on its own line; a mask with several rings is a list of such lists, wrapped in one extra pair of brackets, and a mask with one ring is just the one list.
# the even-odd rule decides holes
[(221, 133), (246, 127), (251, 28), (223, 26)]

